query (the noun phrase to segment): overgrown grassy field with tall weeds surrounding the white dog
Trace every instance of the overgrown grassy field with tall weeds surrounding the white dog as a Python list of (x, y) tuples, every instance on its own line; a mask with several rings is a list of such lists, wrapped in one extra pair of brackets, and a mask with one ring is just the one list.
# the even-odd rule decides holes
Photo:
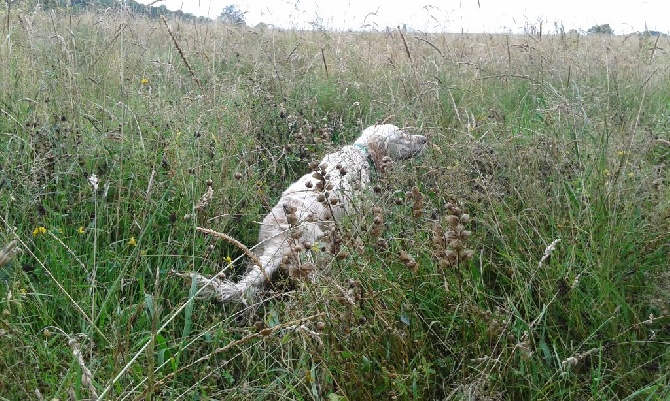
[[(670, 398), (667, 37), (0, 20), (0, 399)], [(318, 280), (195, 296), (382, 121)]]

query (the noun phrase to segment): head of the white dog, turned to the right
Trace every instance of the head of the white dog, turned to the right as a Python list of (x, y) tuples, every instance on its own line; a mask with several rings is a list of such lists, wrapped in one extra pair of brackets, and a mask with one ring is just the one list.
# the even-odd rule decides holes
[(356, 144), (365, 146), (374, 156), (389, 156), (404, 160), (420, 155), (428, 139), (423, 135), (408, 135), (392, 124), (373, 125), (363, 131)]

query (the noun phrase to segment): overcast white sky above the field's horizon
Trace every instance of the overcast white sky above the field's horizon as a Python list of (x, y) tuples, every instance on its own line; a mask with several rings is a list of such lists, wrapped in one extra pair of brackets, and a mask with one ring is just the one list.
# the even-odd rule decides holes
[[(154, 0), (140, 0), (142, 3)], [(523, 32), (543, 21), (543, 31), (587, 30), (610, 24), (617, 34), (648, 29), (670, 32), (668, 0), (163, 0), (154, 6), (216, 18), (235, 4), (248, 25), (283, 28), (378, 29), (407, 24), (421, 31)]]

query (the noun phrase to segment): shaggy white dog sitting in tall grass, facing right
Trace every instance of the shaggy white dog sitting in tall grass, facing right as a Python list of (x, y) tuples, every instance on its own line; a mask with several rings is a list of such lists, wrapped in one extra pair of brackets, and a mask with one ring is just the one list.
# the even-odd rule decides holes
[[(314, 244), (350, 209), (356, 193), (370, 183), (375, 166), (387, 157), (404, 160), (421, 154), (427, 139), (407, 135), (395, 125), (375, 125), (363, 131), (353, 145), (326, 155), (319, 168), (291, 184), (277, 205), (265, 216), (252, 265), (237, 282), (199, 279), (204, 294), (222, 302), (245, 301), (262, 289), (279, 269), (292, 245)], [(296, 233), (296, 230), (300, 230)]]

